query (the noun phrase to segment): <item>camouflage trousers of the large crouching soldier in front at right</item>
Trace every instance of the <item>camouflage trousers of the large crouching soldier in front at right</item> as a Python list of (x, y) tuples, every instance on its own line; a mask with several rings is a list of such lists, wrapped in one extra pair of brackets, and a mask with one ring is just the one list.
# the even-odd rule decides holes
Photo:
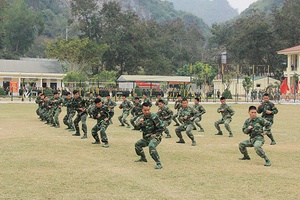
[(257, 153), (257, 155), (259, 155), (261, 158), (265, 158), (265, 152), (262, 148), (262, 146), (264, 145), (265, 140), (263, 137), (259, 138), (259, 139), (250, 139), (250, 140), (245, 140), (243, 142), (241, 142), (239, 144), (239, 149), (240, 152), (242, 154), (244, 154), (244, 156), (248, 156), (248, 151), (246, 147), (254, 147), (255, 152)]

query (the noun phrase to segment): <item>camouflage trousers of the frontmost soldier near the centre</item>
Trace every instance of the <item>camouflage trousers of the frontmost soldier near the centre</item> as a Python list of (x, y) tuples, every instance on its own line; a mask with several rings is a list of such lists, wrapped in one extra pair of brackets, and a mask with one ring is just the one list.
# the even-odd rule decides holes
[(152, 157), (152, 159), (156, 163), (160, 163), (160, 157), (158, 155), (158, 152), (156, 150), (156, 147), (161, 142), (161, 136), (151, 139), (140, 139), (135, 143), (135, 152), (138, 156), (146, 157), (145, 152), (143, 150), (143, 147), (149, 146), (149, 153)]

